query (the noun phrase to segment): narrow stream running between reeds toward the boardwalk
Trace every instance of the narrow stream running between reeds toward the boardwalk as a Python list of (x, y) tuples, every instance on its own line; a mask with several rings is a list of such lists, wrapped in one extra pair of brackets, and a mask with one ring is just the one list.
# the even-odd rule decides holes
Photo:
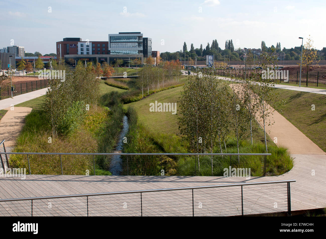
[[(126, 115), (123, 116), (122, 125), (123, 126), (119, 135), (119, 141), (113, 153), (121, 153), (122, 151), (123, 144), (124, 144), (123, 138), (126, 136), (129, 128), (128, 118)], [(120, 175), (120, 173), (122, 172), (121, 164), (122, 164), (122, 158), (120, 157), (120, 155), (113, 155), (109, 167), (109, 171), (112, 173), (112, 175)]]

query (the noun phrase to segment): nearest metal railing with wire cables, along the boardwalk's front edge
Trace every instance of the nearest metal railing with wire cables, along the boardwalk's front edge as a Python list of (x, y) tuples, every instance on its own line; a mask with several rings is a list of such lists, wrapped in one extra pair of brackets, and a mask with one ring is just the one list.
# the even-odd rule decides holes
[(2, 216), (244, 216), (287, 212), (290, 182), (272, 181), (0, 199)]

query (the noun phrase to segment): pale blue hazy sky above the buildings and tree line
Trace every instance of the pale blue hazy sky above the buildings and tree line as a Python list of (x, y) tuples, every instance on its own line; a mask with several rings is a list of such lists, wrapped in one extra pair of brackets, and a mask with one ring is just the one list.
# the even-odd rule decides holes
[(0, 48), (15, 45), (26, 52), (55, 53), (65, 37), (108, 41), (108, 34), (141, 32), (152, 50), (175, 52), (186, 42), (200, 48), (217, 39), (235, 48), (281, 43), (301, 46), (311, 35), (314, 47), (326, 47), (326, 1), (3, 1), (0, 0)]

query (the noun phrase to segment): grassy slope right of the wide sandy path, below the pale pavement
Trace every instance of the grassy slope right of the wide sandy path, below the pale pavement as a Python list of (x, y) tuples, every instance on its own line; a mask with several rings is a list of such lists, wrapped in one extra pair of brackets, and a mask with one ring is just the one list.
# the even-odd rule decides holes
[[(295, 127), (326, 151), (326, 95), (276, 89), (285, 105), (275, 107)], [(315, 105), (315, 110), (311, 110)]]

